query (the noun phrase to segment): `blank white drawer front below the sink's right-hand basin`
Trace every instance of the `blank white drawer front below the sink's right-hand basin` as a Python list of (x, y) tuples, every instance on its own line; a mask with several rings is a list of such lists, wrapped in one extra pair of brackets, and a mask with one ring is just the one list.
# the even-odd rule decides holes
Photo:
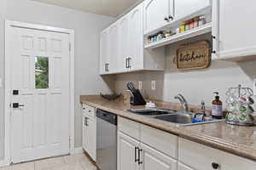
[(154, 127), (141, 125), (141, 141), (160, 150), (167, 156), (177, 158), (177, 136)]

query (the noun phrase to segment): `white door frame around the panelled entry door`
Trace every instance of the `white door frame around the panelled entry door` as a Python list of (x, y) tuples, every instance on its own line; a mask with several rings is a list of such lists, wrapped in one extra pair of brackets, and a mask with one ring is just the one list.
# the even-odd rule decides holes
[[(69, 116), (69, 152), (70, 154), (75, 153), (74, 149), (74, 31), (70, 29), (57, 28), (52, 26), (43, 26), (30, 24), (25, 22), (17, 22), (12, 20), (5, 20), (5, 74), (4, 74), (4, 161), (3, 166), (8, 166), (11, 163), (11, 89), (10, 89), (10, 68), (9, 63), (9, 34), (12, 27), (27, 28), (39, 31), (52, 31), (64, 34), (69, 34), (70, 36), (70, 116)], [(1, 165), (0, 165), (1, 167)]]

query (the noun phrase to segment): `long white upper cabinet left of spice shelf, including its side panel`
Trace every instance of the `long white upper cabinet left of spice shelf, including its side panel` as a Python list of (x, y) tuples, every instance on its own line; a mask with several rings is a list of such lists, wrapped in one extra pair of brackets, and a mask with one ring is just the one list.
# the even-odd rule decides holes
[(102, 31), (101, 44), (101, 75), (165, 68), (164, 50), (144, 50), (143, 3)]

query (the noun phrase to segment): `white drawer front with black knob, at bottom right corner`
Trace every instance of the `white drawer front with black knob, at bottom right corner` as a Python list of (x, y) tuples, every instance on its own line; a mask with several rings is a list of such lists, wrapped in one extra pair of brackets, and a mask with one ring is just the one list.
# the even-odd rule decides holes
[(218, 164), (218, 170), (256, 169), (256, 161), (182, 138), (178, 139), (178, 159), (197, 170), (212, 169), (212, 163)]

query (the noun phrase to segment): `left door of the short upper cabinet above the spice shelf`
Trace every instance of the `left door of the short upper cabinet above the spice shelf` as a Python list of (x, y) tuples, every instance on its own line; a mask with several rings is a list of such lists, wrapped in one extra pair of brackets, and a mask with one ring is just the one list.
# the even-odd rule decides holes
[(173, 0), (146, 0), (143, 4), (145, 34), (169, 24), (165, 18), (173, 16)]

